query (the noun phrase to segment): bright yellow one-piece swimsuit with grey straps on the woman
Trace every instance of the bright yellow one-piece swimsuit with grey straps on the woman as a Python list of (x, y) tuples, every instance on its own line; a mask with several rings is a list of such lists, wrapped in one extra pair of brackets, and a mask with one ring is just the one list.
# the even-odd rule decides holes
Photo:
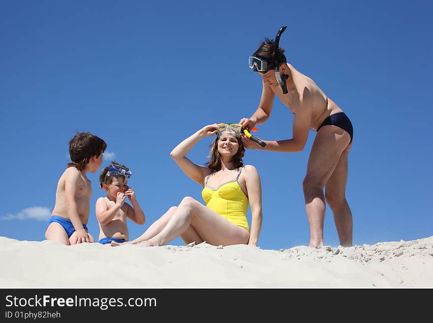
[(242, 168), (239, 170), (235, 180), (224, 183), (217, 189), (207, 186), (210, 174), (206, 177), (205, 187), (201, 192), (201, 196), (206, 202), (207, 207), (237, 226), (247, 229), (249, 232), (247, 221), (249, 201), (238, 182), (241, 172)]

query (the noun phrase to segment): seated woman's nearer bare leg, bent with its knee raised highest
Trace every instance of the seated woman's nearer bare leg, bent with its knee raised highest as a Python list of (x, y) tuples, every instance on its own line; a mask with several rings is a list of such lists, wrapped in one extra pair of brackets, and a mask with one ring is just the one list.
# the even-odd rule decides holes
[(184, 235), (189, 226), (195, 230), (201, 241), (207, 241), (210, 244), (248, 243), (249, 233), (245, 228), (238, 227), (200, 202), (186, 197), (164, 229), (153, 238), (143, 241), (143, 244), (164, 245), (178, 235)]

